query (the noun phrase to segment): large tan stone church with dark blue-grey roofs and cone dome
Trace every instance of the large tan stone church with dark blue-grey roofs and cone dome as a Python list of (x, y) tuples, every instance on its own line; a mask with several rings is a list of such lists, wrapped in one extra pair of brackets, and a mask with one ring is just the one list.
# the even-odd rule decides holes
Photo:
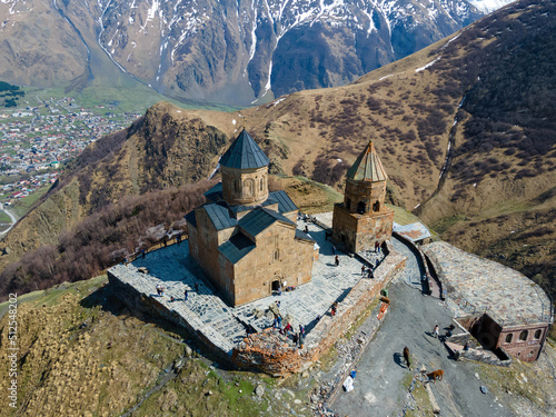
[(311, 279), (318, 249), (288, 195), (268, 191), (268, 163), (244, 129), (220, 158), (221, 182), (186, 216), (189, 252), (231, 306)]

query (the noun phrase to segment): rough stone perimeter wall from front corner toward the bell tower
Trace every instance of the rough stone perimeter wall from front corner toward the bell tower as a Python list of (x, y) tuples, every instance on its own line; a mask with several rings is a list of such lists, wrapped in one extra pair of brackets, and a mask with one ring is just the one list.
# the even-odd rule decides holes
[[(406, 265), (406, 257), (399, 255), (387, 242), (389, 256), (375, 272), (375, 279), (361, 279), (338, 304), (335, 317), (324, 316), (305, 339), (305, 348), (295, 349), (287, 344), (268, 342), (267, 329), (247, 337), (234, 348), (232, 361), (241, 369), (261, 371), (272, 376), (287, 376), (309, 368), (351, 327), (365, 309), (379, 297), (385, 288)], [(380, 277), (380, 278), (378, 278)]]

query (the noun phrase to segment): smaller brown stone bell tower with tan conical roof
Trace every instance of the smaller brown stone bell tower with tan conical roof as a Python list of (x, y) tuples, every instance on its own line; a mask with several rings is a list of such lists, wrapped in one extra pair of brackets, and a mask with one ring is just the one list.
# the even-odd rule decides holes
[(394, 211), (386, 207), (388, 176), (373, 142), (346, 173), (344, 202), (334, 206), (332, 239), (347, 250), (373, 249), (391, 238)]

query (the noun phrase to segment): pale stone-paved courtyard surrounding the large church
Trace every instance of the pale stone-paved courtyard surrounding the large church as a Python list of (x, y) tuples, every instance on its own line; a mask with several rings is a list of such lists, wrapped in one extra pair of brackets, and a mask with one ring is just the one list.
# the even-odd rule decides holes
[[(183, 317), (193, 329), (209, 336), (212, 344), (231, 354), (234, 346), (246, 337), (248, 326), (257, 330), (272, 326), (272, 318), (266, 315), (258, 315), (257, 318), (255, 310), (265, 312), (271, 304), (280, 301), (282, 317), (287, 317), (295, 328), (306, 326), (309, 332), (317, 317), (324, 316), (334, 301), (341, 301), (361, 279), (360, 260), (337, 250), (339, 266), (336, 267), (332, 245), (326, 240), (325, 230), (312, 222), (298, 221), (300, 230), (306, 226), (320, 247), (319, 258), (312, 267), (312, 280), (294, 291), (284, 291), (280, 296), (269, 296), (236, 308), (224, 302), (215, 287), (202, 277), (188, 256), (187, 241), (149, 252), (146, 258), (139, 258), (128, 266), (117, 265), (109, 272), (142, 295), (156, 298), (166, 308)], [(374, 252), (366, 252), (365, 256), (373, 265), (384, 257)], [(147, 268), (148, 274), (139, 271), (142, 267)], [(162, 297), (157, 295), (157, 285), (165, 288)], [(187, 300), (183, 299), (186, 289)], [(170, 301), (171, 297), (173, 301)]]

